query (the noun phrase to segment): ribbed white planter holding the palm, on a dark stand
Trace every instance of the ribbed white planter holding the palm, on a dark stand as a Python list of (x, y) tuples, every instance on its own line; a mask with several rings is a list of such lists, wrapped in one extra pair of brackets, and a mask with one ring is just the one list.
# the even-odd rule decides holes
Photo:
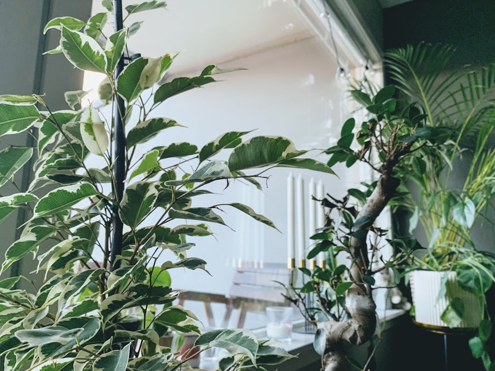
[[(449, 300), (446, 297), (437, 302), (440, 292), (440, 280), (445, 272), (413, 271), (410, 274), (411, 294), (416, 322), (422, 325), (447, 327), (440, 319)], [(483, 302), (480, 297), (462, 289), (455, 280), (455, 272), (449, 272), (447, 285), (452, 297), (462, 299), (464, 317), (458, 327), (476, 328), (480, 324)]]

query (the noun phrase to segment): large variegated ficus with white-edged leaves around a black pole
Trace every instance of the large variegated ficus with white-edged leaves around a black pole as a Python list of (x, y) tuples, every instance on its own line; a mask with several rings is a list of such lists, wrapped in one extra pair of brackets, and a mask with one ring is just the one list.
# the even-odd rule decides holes
[[(170, 287), (167, 271), (205, 269), (205, 261), (187, 256), (194, 245), (188, 236), (211, 234), (204, 222), (225, 224), (215, 212), (221, 205), (194, 207), (193, 201), (218, 181), (261, 188), (256, 178), (271, 167), (332, 173), (325, 164), (299, 158), (305, 151), (289, 139), (243, 141), (249, 132), (229, 132), (201, 147), (173, 143), (167, 136), (165, 145), (147, 148), (149, 139), (179, 126), (154, 117), (154, 108), (228, 71), (210, 65), (198, 76), (167, 80), (174, 56), (127, 58), (127, 39), (139, 23), (127, 28), (116, 21), (113, 33), (104, 35), (103, 25), (112, 12), (118, 14), (121, 3), (105, 0), (103, 5), (108, 12), (88, 22), (61, 17), (45, 29), (61, 33), (60, 47), (52, 53), (63, 52), (75, 67), (106, 75), (99, 88), (102, 107), (75, 109), (83, 91), (67, 92), (71, 110), (62, 111), (50, 110), (40, 92), (0, 96), (0, 135), (27, 132), (36, 139), (32, 147), (0, 152), (0, 185), (11, 183), (16, 189), (2, 194), (0, 221), (20, 208), (29, 214), (1, 265), (1, 370), (184, 368), (188, 354), (179, 358), (159, 338), (167, 330), (199, 333), (199, 328), (193, 313), (174, 305), (178, 292)], [(165, 5), (153, 0), (120, 12)], [(124, 67), (124, 59), (133, 60)], [(105, 103), (113, 114), (101, 113)], [(136, 158), (140, 148), (144, 154)], [(228, 161), (214, 160), (224, 149), (230, 151)], [(192, 174), (182, 171), (186, 161)], [(26, 167), (32, 169), (32, 181), (21, 189), (15, 174)], [(274, 227), (247, 205), (222, 205), (229, 206)], [(159, 261), (166, 249), (177, 259)], [(29, 276), (5, 277), (9, 266), (28, 254), (30, 259), (34, 254), (36, 271), (45, 277), (32, 282), (31, 290), (20, 285)], [(141, 319), (132, 330), (126, 326), (130, 314)], [(221, 370), (263, 369), (292, 357), (245, 329), (207, 332), (196, 345), (227, 349), (231, 355), (220, 361)]]

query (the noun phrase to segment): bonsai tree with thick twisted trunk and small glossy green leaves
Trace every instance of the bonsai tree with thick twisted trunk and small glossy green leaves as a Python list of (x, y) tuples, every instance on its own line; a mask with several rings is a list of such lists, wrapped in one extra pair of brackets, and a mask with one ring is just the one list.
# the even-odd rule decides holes
[[(421, 156), (422, 149), (437, 150), (452, 135), (447, 128), (430, 126), (417, 104), (399, 101), (395, 86), (372, 92), (366, 81), (350, 92), (366, 110), (366, 119), (362, 123), (348, 119), (337, 145), (326, 153), (331, 155), (329, 166), (345, 162), (350, 167), (357, 161), (368, 165), (376, 181), (364, 184), (363, 190), (349, 189), (342, 199), (328, 194), (318, 200), (325, 209), (326, 224), (311, 237), (316, 244), (307, 258), (324, 251), (328, 259), (325, 267), (300, 268), (306, 283), (300, 292), (291, 289), (288, 295), (317, 327), (314, 348), (322, 356), (325, 371), (347, 370), (344, 343), (360, 345), (375, 333), (374, 276), (404, 263), (419, 247), (414, 238), (402, 237), (388, 240), (398, 248), (390, 259), (380, 252), (387, 231), (374, 224), (400, 196), (397, 169)], [(338, 255), (345, 255), (349, 263), (338, 265)], [(314, 295), (317, 305), (307, 306), (306, 293)]]

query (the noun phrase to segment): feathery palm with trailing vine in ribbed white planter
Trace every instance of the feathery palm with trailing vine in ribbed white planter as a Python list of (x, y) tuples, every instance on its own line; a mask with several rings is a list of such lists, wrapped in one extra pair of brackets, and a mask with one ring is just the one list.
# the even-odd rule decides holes
[[(467, 67), (448, 71), (453, 52), (450, 46), (420, 44), (386, 53), (391, 78), (408, 99), (419, 102), (429, 126), (455, 130), (439, 149), (421, 148), (422, 155), (397, 168), (419, 188), (415, 195), (405, 192), (397, 206), (412, 215), (409, 232), (419, 222), (428, 241), (427, 252), (409, 268), (416, 320), (437, 328), (478, 328), (471, 350), (489, 370), (492, 323), (486, 292), (495, 281), (495, 260), (483, 251), (490, 246), (477, 246), (472, 229), (476, 221), (493, 226), (495, 65), (478, 72)], [(424, 279), (436, 287), (430, 295), (414, 289), (427, 287)], [(423, 302), (428, 309), (419, 307)]]

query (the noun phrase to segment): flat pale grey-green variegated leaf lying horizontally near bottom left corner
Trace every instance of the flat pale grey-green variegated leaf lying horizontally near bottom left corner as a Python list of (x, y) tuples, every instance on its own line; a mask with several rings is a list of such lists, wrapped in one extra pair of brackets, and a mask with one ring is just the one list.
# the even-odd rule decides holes
[(47, 326), (15, 331), (15, 337), (29, 346), (36, 347), (48, 343), (67, 344), (81, 332), (83, 328), (68, 329), (62, 326)]

